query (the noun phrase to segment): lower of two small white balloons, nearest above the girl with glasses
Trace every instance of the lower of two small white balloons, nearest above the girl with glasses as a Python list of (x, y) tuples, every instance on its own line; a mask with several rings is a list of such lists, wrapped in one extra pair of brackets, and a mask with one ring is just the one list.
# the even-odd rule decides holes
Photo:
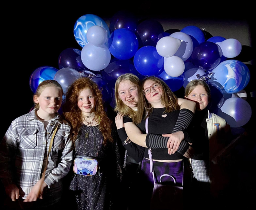
[(178, 56), (164, 58), (164, 70), (171, 77), (179, 77), (185, 69), (185, 64)]

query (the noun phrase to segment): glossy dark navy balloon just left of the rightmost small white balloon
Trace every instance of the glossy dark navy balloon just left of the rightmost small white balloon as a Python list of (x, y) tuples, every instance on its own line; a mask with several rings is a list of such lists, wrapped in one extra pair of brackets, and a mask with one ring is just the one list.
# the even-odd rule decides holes
[(191, 55), (192, 63), (204, 70), (214, 69), (221, 61), (221, 48), (213, 42), (199, 44)]

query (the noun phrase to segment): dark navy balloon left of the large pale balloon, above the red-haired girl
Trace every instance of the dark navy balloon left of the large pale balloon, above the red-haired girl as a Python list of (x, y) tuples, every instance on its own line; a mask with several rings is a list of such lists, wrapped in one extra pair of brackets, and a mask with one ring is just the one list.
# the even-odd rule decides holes
[(60, 69), (71, 68), (77, 71), (86, 69), (81, 60), (81, 50), (75, 48), (67, 48), (61, 52), (58, 58)]

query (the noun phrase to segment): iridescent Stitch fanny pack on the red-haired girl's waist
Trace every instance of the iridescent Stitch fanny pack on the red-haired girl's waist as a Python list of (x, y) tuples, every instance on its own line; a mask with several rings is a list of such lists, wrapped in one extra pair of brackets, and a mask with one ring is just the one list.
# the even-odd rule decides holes
[(74, 160), (74, 173), (83, 176), (93, 176), (99, 172), (99, 162), (96, 158), (91, 158), (86, 155), (77, 156)]

